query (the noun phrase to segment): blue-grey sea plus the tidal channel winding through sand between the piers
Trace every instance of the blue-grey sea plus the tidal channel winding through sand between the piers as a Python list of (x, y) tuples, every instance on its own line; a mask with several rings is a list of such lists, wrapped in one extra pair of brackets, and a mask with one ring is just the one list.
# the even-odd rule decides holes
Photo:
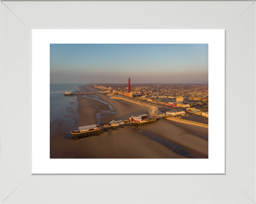
[[(81, 91), (79, 86), (87, 85), (87, 91)], [(77, 113), (78, 100), (76, 96), (64, 96), (65, 92), (96, 92), (92, 90), (88, 84), (50, 84), (50, 135), (58, 132), (58, 130), (64, 130), (66, 132), (66, 138), (71, 138), (70, 130), (79, 127), (80, 119)], [(97, 113), (97, 118), (100, 124), (100, 118), (105, 113), (116, 113), (111, 104), (103, 101), (96, 95), (83, 95), (81, 97), (89, 98), (91, 100), (97, 100), (102, 103), (108, 104), (109, 110), (101, 110)], [(63, 125), (64, 124), (64, 125)]]

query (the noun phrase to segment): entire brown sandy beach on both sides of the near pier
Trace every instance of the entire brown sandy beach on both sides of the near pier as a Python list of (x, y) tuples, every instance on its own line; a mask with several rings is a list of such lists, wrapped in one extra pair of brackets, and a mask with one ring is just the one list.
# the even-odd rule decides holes
[[(84, 86), (81, 90), (93, 89)], [(144, 104), (113, 99), (106, 94), (78, 96), (77, 100), (79, 126), (128, 120), (149, 111), (149, 106)], [(50, 136), (50, 158), (208, 158), (208, 126), (158, 119), (154, 124), (138, 128), (125, 126), (72, 140), (65, 138), (66, 129), (62, 129), (65, 124), (57, 122), (58, 131)]]

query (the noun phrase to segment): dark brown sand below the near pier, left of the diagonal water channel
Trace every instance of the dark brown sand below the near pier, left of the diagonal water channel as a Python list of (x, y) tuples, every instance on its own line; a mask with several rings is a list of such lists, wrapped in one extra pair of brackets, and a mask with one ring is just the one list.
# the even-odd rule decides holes
[(187, 158), (133, 129), (126, 126), (79, 140), (50, 137), (50, 158)]

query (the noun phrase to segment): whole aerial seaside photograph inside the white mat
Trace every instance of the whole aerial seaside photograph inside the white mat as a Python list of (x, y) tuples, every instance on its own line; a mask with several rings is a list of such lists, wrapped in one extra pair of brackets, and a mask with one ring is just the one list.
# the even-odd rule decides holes
[(50, 159), (208, 159), (208, 44), (50, 44)]

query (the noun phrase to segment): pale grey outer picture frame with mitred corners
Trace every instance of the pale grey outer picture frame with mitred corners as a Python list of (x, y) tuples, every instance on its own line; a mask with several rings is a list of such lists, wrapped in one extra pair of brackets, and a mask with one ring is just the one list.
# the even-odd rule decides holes
[[(255, 17), (255, 1), (2, 1), (0, 202), (255, 203)], [(31, 175), (31, 30), (124, 28), (226, 29), (225, 174)]]

